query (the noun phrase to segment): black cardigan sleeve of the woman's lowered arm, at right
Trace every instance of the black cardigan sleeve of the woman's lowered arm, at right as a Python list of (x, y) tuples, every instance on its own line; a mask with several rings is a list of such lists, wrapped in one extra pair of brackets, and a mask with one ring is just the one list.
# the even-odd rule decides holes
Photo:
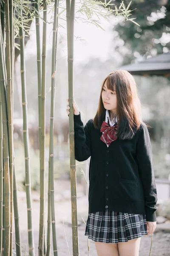
[(136, 158), (139, 164), (139, 175), (144, 189), (146, 220), (156, 221), (157, 191), (153, 170), (152, 148), (149, 132), (144, 124), (139, 133), (136, 145)]

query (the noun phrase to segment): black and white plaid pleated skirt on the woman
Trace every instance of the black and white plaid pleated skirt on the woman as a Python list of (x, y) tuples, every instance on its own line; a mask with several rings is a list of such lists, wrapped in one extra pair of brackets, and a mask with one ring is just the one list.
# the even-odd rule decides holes
[(88, 214), (85, 236), (103, 243), (127, 242), (147, 235), (146, 215), (104, 210)]

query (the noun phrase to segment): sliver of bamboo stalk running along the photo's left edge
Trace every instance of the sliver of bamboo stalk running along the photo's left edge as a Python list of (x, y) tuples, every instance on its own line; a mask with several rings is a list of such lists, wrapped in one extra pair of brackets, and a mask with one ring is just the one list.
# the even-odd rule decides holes
[(0, 93), (0, 256), (3, 243), (3, 116)]

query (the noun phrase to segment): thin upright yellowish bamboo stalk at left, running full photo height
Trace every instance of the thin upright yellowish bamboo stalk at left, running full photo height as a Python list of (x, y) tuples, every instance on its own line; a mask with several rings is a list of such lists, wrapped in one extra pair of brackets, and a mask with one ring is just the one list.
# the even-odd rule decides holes
[[(13, 25), (13, 0), (9, 0), (9, 26), (10, 26), (10, 57), (11, 57), (11, 120), (13, 122), (13, 77), (14, 77), (14, 25)], [(12, 140), (10, 140), (10, 148), (13, 148), (13, 126), (11, 127)], [(14, 148), (13, 148), (14, 149)], [(11, 159), (11, 157), (13, 157)], [(13, 182), (14, 182), (14, 150), (10, 154), (10, 191), (11, 191), (11, 233), (10, 233), (10, 255), (12, 256), (12, 215), (13, 215)]]

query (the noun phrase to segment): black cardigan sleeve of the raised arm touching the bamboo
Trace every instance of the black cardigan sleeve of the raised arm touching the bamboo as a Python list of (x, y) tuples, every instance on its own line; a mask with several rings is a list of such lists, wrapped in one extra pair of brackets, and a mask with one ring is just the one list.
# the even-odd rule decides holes
[(74, 115), (74, 143), (75, 159), (79, 162), (87, 160), (91, 156), (90, 120), (84, 127), (80, 112)]

